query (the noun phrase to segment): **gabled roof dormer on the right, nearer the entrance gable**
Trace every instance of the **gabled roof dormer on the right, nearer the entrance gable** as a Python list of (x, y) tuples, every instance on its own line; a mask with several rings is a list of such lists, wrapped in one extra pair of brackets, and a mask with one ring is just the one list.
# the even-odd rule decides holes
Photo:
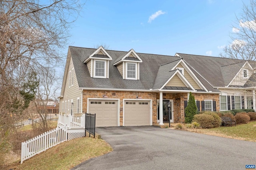
[(131, 49), (123, 57), (119, 57), (114, 62), (123, 79), (140, 80), (140, 63), (142, 60), (138, 54)]

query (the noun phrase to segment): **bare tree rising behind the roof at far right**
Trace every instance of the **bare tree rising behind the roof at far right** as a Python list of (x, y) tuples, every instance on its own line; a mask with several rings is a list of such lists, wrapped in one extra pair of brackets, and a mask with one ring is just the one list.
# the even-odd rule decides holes
[(224, 47), (221, 57), (231, 59), (256, 60), (256, 1), (244, 4), (242, 14), (236, 16), (232, 33), (232, 42)]

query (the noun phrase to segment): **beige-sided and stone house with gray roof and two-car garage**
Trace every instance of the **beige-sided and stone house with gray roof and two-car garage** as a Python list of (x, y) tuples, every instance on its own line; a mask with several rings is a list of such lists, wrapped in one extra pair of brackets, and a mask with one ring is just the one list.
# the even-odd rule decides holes
[(184, 122), (189, 92), (198, 111), (256, 109), (253, 61), (69, 47), (60, 112), (96, 113), (96, 126)]

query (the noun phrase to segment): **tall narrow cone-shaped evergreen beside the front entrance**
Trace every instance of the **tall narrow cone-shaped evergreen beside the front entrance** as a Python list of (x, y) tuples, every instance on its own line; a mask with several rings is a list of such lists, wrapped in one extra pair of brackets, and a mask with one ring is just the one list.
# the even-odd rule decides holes
[(185, 108), (185, 122), (191, 123), (194, 115), (197, 114), (196, 101), (192, 93), (189, 93), (188, 106)]

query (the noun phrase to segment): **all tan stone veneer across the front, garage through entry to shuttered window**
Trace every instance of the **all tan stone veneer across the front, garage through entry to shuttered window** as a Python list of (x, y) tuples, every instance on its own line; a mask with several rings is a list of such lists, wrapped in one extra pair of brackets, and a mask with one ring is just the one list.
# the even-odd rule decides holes
[[(87, 98), (103, 98), (104, 90), (83, 90), (83, 112), (87, 111)], [(106, 91), (106, 96), (109, 99), (120, 99), (120, 126), (123, 125), (123, 99), (134, 99), (138, 92), (124, 92), (124, 91)], [(184, 117), (184, 101), (188, 100), (188, 93), (163, 93), (163, 100), (173, 100), (173, 114), (174, 122), (185, 122)], [(202, 111), (201, 101), (212, 100), (216, 101), (216, 111), (220, 111), (219, 94), (196, 94), (193, 93), (195, 100), (200, 101), (200, 111)], [(160, 94), (156, 92), (140, 92), (142, 99), (152, 100), (152, 123), (157, 123), (157, 99)]]

